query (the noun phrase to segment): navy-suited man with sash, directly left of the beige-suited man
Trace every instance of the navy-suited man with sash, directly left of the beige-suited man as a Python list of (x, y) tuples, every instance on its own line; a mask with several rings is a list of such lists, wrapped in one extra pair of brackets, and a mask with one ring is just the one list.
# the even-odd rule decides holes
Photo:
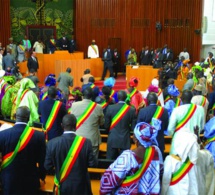
[(48, 99), (39, 102), (38, 113), (44, 130), (46, 130), (47, 140), (51, 140), (62, 135), (61, 126), (63, 117), (67, 114), (66, 106), (56, 100), (57, 89), (54, 86), (48, 88)]

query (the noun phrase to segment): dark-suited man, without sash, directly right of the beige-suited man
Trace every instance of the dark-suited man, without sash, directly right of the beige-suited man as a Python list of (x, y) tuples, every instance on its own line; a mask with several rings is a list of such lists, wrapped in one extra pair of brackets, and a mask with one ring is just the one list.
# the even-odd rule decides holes
[(119, 122), (111, 128), (113, 118), (119, 110), (125, 106), (127, 94), (125, 91), (118, 92), (118, 104), (110, 105), (105, 116), (105, 129), (109, 132), (107, 141), (107, 159), (115, 160), (123, 150), (130, 149), (130, 131), (136, 124), (135, 108), (130, 107)]

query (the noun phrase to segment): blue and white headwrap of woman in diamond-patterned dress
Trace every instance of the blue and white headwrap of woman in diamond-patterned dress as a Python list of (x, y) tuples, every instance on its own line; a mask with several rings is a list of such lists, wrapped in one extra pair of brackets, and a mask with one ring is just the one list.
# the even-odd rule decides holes
[[(157, 119), (154, 120), (156, 121)], [(138, 139), (140, 144), (145, 148), (151, 145), (158, 145), (156, 140), (157, 134), (158, 129), (156, 128), (156, 125), (154, 127), (145, 122), (138, 123), (134, 128), (135, 137)]]

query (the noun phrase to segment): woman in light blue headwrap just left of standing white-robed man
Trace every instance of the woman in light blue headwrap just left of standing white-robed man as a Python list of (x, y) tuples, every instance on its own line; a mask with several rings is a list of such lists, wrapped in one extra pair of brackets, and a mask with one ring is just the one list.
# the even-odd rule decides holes
[(173, 109), (180, 106), (182, 102), (181, 99), (178, 97), (180, 95), (180, 92), (175, 85), (169, 85), (167, 91), (169, 97), (166, 98), (164, 108), (167, 109), (168, 115), (170, 117)]

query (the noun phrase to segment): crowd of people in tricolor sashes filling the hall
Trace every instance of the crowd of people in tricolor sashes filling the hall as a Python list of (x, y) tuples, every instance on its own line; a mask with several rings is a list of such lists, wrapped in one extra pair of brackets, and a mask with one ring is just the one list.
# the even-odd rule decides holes
[[(95, 53), (95, 41), (89, 47)], [(164, 50), (168, 53), (167, 46)], [(134, 53), (128, 52), (128, 58)], [(187, 64), (189, 56), (180, 56), (176, 78), (187, 77), (181, 91), (175, 85), (175, 74), (170, 74), (175, 66), (168, 60), (162, 64), (160, 79), (153, 79), (144, 92), (138, 91), (136, 77), (128, 81), (128, 89), (115, 91), (113, 72), (100, 90), (89, 69), (80, 78), (83, 85), (71, 90), (71, 68), (57, 79), (48, 75), (41, 87), (32, 55), (26, 78), (0, 70), (1, 117), (15, 120), (13, 127), (3, 124), (0, 131), (4, 194), (36, 194), (39, 179), (45, 182), (46, 172), (53, 168), (56, 193), (91, 194), (87, 168), (97, 165), (101, 128), (108, 134), (106, 158), (114, 162), (101, 178), (100, 194), (214, 193), (211, 53), (192, 68)], [(107, 69), (112, 66), (109, 55), (107, 48), (103, 58)], [(160, 66), (159, 61), (155, 64)], [(43, 132), (34, 130), (37, 125), (42, 125)], [(130, 149), (131, 132), (134, 150)], [(165, 135), (172, 136), (168, 156)]]

